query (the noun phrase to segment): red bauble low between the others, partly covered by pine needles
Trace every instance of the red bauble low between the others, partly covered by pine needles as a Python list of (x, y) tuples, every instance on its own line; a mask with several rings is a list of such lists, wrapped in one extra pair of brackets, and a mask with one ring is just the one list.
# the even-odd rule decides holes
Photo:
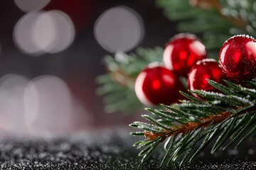
[(223, 83), (223, 79), (225, 79), (220, 64), (213, 59), (198, 61), (191, 68), (188, 74), (188, 88), (191, 90), (218, 91), (208, 83), (208, 79), (218, 83)]

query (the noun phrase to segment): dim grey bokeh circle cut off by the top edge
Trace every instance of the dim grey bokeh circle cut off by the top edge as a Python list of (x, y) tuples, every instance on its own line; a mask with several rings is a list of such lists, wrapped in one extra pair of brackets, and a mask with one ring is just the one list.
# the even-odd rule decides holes
[(49, 4), (50, 0), (14, 0), (23, 12), (38, 11)]

